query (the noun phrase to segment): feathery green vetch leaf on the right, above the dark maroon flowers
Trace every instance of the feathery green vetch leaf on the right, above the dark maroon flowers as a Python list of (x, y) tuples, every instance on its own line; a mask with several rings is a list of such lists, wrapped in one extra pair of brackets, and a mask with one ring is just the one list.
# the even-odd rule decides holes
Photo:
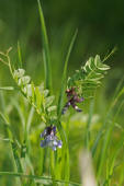
[(80, 70), (76, 70), (76, 73), (68, 79), (68, 88), (76, 86), (79, 95), (84, 98), (90, 98), (94, 96), (94, 91), (101, 84), (101, 79), (110, 69), (109, 66), (104, 65), (100, 56), (95, 58), (89, 58)]

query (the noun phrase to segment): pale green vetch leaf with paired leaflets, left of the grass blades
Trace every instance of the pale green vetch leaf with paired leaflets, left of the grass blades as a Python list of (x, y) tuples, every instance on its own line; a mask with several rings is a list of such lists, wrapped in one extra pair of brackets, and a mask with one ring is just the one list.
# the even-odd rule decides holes
[(14, 70), (13, 77), (21, 92), (27, 98), (29, 103), (36, 109), (43, 121), (45, 124), (47, 121), (50, 123), (53, 119), (52, 112), (56, 111), (56, 106), (53, 105), (55, 96), (48, 95), (48, 90), (44, 89), (44, 84), (35, 86), (29, 75), (21, 75), (21, 78), (16, 77), (15, 73), (19, 70), (24, 71), (23, 69)]

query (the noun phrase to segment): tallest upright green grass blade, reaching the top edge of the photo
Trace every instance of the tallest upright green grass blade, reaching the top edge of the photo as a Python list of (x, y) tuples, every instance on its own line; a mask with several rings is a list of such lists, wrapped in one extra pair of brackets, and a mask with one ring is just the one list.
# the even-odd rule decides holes
[(44, 67), (45, 67), (45, 82), (46, 82), (46, 89), (50, 90), (52, 77), (50, 77), (50, 57), (49, 57), (48, 38), (47, 38), (47, 33), (46, 33), (44, 14), (43, 14), (43, 10), (42, 10), (42, 5), (41, 5), (40, 0), (37, 0), (37, 3), (38, 3), (41, 27), (42, 27), (43, 57), (44, 57)]

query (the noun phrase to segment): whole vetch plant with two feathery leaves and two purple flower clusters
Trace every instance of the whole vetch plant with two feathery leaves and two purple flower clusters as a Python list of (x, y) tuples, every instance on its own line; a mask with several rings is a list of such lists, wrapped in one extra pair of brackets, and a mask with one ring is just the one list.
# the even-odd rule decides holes
[[(33, 81), (31, 81), (31, 77), (25, 75), (24, 69), (14, 69), (10, 62), (8, 51), (2, 55), (8, 59), (8, 66), (16, 85), (20, 88), (22, 94), (27, 98), (29, 103), (36, 109), (41, 119), (46, 124), (46, 126), (53, 125), (53, 123), (57, 125), (59, 121), (56, 113), (57, 107), (53, 105), (55, 96), (49, 95), (49, 90), (44, 89), (43, 83), (40, 86), (35, 86)], [(110, 67), (102, 63), (100, 57), (97, 56), (95, 58), (90, 58), (86, 62), (84, 67), (77, 70), (76, 73), (67, 81), (66, 94), (68, 102), (64, 106), (61, 114), (65, 114), (70, 105), (75, 108), (75, 111), (81, 112), (81, 109), (77, 106), (77, 103), (81, 103), (84, 98), (91, 98), (93, 96), (95, 89), (101, 83), (100, 80), (104, 77), (109, 69)], [(52, 114), (53, 112), (54, 114)], [(48, 129), (49, 128), (52, 127), (48, 127)], [(46, 130), (47, 128), (45, 131)], [(53, 150), (56, 150), (54, 142), (56, 143), (55, 147), (61, 148), (61, 142), (57, 141), (55, 133), (49, 132), (41, 147), (48, 146), (52, 147)], [(58, 143), (60, 143), (60, 146)]]

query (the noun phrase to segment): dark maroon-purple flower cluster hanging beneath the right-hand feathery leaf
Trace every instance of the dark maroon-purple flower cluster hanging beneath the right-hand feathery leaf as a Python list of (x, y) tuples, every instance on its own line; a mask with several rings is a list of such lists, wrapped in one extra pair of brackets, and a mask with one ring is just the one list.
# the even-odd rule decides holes
[(68, 102), (66, 103), (66, 105), (63, 108), (61, 114), (65, 114), (66, 111), (69, 108), (69, 106), (71, 105), (77, 112), (82, 112), (82, 109), (80, 109), (77, 106), (77, 103), (81, 103), (83, 101), (83, 97), (79, 97), (78, 94), (76, 93), (76, 89), (71, 88), (66, 90), (66, 94), (67, 94), (67, 98)]

